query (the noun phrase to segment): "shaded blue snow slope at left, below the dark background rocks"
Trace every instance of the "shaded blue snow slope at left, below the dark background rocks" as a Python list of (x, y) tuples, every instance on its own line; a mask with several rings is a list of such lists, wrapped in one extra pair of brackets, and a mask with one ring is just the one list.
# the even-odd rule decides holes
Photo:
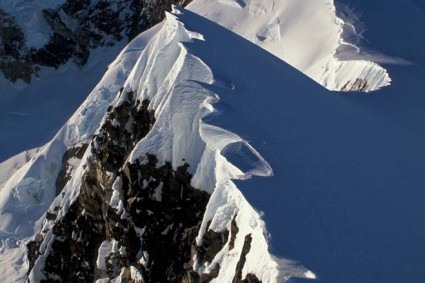
[(48, 142), (87, 98), (122, 47), (94, 51), (82, 69), (72, 63), (58, 70), (43, 68), (41, 78), (31, 84), (13, 84), (0, 74), (0, 162)]

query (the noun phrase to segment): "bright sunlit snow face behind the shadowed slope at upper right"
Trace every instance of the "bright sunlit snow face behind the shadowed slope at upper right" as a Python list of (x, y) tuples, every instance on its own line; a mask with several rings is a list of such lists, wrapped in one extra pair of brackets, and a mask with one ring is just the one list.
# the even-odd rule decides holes
[[(344, 21), (333, 0), (197, 0), (188, 8), (245, 37), (330, 90), (373, 91), (390, 84), (373, 58), (344, 59)], [(355, 49), (354, 49), (355, 50)]]

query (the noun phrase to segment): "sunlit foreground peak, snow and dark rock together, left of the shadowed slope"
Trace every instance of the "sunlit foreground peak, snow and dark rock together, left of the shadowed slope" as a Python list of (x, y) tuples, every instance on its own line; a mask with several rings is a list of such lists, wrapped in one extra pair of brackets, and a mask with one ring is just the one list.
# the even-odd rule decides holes
[[(121, 90), (115, 90), (119, 95), (108, 111), (101, 101), (93, 101), (102, 99), (99, 93), (92, 94), (57, 137), (25, 165), (46, 171), (34, 176), (23, 168), (3, 187), (6, 236), (36, 233), (27, 244), (29, 253), (22, 266), (23, 271), (30, 269), (31, 282), (72, 278), (227, 282), (313, 276), (302, 268), (289, 269), (268, 253), (264, 224), (231, 179), (267, 176), (271, 169), (242, 138), (203, 122), (215, 111), (218, 96), (202, 84), (226, 89), (222, 85), (226, 82), (214, 82), (213, 70), (183, 44), (208, 36), (211, 42), (234, 42), (231, 52), (245, 48), (252, 52), (252, 47), (188, 11), (184, 12), (188, 23), (183, 22), (180, 13), (169, 15), (150, 40)], [(201, 34), (186, 29), (186, 24), (205, 27)], [(149, 35), (143, 34), (137, 43)], [(229, 38), (221, 41), (222, 36)], [(259, 52), (260, 58), (268, 59), (257, 49), (244, 58)], [(113, 75), (105, 80), (116, 80)], [(96, 114), (105, 112), (101, 122)], [(99, 122), (101, 127), (86, 144), (91, 137), (84, 132), (93, 133)], [(262, 165), (247, 172), (236, 168), (222, 155), (224, 150), (234, 151), (233, 146), (251, 151)], [(33, 228), (44, 213), (43, 203), (55, 195)], [(22, 207), (27, 209), (17, 215)], [(6, 249), (4, 254), (10, 251), (15, 252)], [(261, 264), (257, 258), (262, 258)]]

